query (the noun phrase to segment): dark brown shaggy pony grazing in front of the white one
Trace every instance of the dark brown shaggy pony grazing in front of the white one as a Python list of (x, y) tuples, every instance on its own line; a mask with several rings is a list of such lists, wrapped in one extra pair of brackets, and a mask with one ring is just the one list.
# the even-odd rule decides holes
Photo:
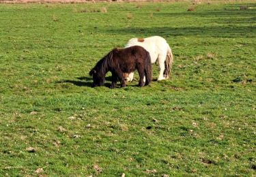
[(108, 71), (112, 74), (111, 88), (115, 88), (117, 79), (121, 82), (121, 86), (126, 86), (124, 73), (135, 71), (139, 72), (139, 86), (143, 86), (143, 78), (145, 76), (145, 85), (152, 81), (152, 66), (150, 53), (141, 46), (132, 46), (129, 48), (114, 48), (106, 54), (96, 66), (89, 71), (89, 75), (93, 76), (93, 86), (102, 86), (105, 82), (105, 75)]

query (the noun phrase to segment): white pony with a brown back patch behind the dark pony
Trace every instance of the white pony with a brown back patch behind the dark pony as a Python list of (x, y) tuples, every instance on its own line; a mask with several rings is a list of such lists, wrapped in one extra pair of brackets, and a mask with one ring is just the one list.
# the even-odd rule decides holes
[[(173, 54), (167, 41), (160, 36), (152, 36), (147, 38), (132, 38), (126, 44), (126, 48), (130, 46), (142, 46), (150, 52), (151, 63), (158, 60), (160, 74), (158, 80), (169, 78), (171, 65), (173, 64)], [(126, 80), (132, 81), (134, 73), (130, 73)]]

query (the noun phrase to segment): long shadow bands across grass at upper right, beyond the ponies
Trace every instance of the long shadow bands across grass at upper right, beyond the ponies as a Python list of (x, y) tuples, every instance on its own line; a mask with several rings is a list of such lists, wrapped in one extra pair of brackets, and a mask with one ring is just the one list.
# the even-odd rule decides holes
[[(239, 6), (237, 7), (237, 9)], [(201, 36), (201, 37), (255, 37), (256, 9), (251, 10), (213, 10), (209, 12), (160, 12), (156, 18), (201, 18), (203, 23), (197, 27), (126, 27), (108, 29), (106, 33), (163, 35), (163, 36)], [(193, 21), (192, 21), (193, 22)]]

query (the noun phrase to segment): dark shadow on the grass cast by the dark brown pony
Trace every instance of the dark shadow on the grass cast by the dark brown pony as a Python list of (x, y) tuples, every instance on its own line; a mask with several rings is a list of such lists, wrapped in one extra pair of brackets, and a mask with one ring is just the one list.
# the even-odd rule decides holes
[[(70, 83), (76, 86), (88, 86), (93, 87), (93, 80), (90, 77), (82, 76), (77, 78), (78, 80), (60, 80), (57, 83)], [(111, 76), (106, 77), (106, 80), (111, 81)], [(104, 86), (110, 87), (110, 83), (105, 83)]]

